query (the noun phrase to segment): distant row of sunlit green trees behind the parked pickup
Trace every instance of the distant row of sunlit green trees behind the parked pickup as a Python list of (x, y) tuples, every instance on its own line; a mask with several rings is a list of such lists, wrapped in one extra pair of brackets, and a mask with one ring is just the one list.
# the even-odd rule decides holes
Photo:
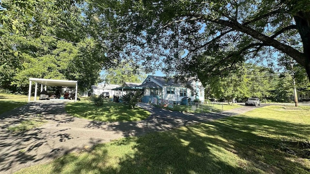
[(205, 87), (205, 98), (245, 101), (250, 97), (258, 97), (273, 102), (290, 102), (294, 89), (293, 78), (299, 94), (310, 90), (307, 77), (300, 75), (300, 67), (293, 68), (279, 73), (271, 68), (244, 64), (229, 76), (210, 77)]

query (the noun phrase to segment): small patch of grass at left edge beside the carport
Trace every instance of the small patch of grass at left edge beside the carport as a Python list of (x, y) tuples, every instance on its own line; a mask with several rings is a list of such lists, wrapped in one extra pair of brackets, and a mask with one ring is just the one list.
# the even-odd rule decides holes
[[(31, 97), (33, 100), (33, 97)], [(28, 96), (0, 93), (0, 114), (27, 104)]]

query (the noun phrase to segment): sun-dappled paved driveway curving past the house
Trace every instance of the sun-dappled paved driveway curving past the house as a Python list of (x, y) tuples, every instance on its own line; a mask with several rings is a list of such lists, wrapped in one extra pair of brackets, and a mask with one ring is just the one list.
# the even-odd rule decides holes
[[(242, 114), (256, 108), (249, 106), (217, 114), (191, 115), (140, 103), (140, 107), (152, 113), (147, 119), (105, 123), (69, 116), (65, 113), (64, 105), (64, 102), (29, 102), (0, 115), (0, 174), (11, 174), (98, 143), (152, 131), (168, 131), (188, 124)], [(47, 123), (39, 128), (18, 133), (7, 129), (11, 125), (38, 116), (47, 120)]]

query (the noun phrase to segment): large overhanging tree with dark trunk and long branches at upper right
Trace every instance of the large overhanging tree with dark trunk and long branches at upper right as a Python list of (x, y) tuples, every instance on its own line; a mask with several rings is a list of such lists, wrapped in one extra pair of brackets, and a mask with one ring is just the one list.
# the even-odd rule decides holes
[(163, 60), (165, 70), (182, 74), (188, 70), (203, 80), (227, 74), (245, 60), (274, 65), (277, 58), (289, 56), (310, 78), (309, 0), (91, 0), (89, 4), (90, 17), (113, 21), (109, 26), (122, 40), (113, 47), (130, 50), (136, 58), (144, 54), (145, 65)]

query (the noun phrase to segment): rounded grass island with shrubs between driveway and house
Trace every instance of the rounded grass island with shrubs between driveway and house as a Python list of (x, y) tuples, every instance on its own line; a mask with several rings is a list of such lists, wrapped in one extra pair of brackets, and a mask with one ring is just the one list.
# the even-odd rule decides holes
[(105, 99), (103, 106), (98, 107), (88, 98), (82, 98), (79, 102), (67, 103), (65, 108), (71, 116), (104, 122), (139, 121), (151, 115), (139, 107), (129, 109), (123, 103), (111, 102), (108, 99)]

